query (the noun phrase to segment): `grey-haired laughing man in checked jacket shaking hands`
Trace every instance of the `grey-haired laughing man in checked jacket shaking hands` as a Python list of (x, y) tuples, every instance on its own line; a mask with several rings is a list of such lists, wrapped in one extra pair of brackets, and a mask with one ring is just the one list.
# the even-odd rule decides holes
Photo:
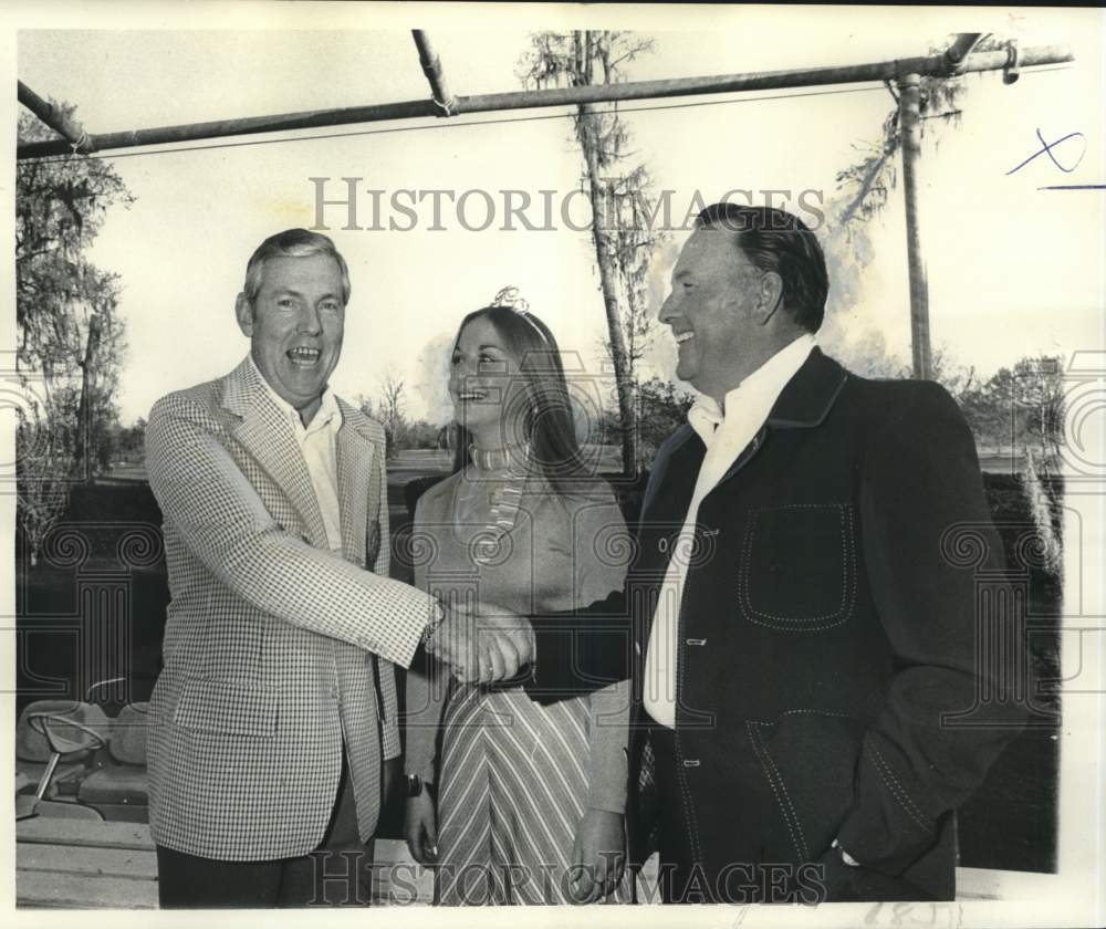
[(321, 902), (324, 868), (356, 862), (358, 884), (325, 887), (367, 902), (367, 856), (311, 853), (364, 853), (376, 828), (393, 662), (467, 636), (388, 578), (384, 430), (327, 388), (348, 296), (328, 238), (267, 239), (236, 304), (249, 355), (149, 415), (173, 595), (148, 743), (164, 907)]

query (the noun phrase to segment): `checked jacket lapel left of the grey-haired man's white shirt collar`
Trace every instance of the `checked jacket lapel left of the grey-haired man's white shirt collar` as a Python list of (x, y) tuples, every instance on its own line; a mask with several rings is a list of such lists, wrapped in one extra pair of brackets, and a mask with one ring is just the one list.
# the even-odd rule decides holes
[(311, 544), (326, 547), (323, 514), (303, 453), (249, 359), (227, 376), (223, 406), (240, 417), (231, 434), (288, 495)]

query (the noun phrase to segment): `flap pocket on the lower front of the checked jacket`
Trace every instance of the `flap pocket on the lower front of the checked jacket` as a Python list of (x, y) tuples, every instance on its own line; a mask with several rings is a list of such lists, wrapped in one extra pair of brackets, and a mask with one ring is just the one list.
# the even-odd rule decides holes
[(186, 680), (173, 711), (176, 726), (212, 735), (271, 738), (276, 721), (275, 690), (226, 680)]

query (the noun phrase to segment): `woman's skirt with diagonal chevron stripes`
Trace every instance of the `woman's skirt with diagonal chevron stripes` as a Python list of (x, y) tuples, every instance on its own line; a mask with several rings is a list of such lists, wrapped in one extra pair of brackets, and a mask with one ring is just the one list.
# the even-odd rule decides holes
[[(586, 698), (459, 687), (442, 720), (436, 902), (571, 904), (587, 800)], [(604, 902), (629, 902), (627, 869)]]

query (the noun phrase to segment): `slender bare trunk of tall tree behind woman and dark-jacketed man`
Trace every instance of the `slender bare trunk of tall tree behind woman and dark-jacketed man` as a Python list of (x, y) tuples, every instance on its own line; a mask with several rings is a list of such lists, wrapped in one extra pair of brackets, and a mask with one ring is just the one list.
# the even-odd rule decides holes
[(634, 416), (634, 399), (630, 390), (629, 361), (626, 340), (618, 319), (618, 292), (616, 284), (615, 255), (611, 251), (604, 231), (606, 222), (606, 198), (599, 181), (599, 156), (596, 138), (596, 117), (588, 104), (580, 106), (581, 146), (587, 165), (587, 182), (592, 199), (592, 238), (595, 241), (595, 257), (599, 265), (599, 285), (603, 289), (603, 304), (607, 314), (607, 332), (611, 336), (611, 357), (615, 365), (615, 385), (618, 392), (618, 420), (622, 424), (623, 473), (632, 478), (637, 473), (637, 422)]

